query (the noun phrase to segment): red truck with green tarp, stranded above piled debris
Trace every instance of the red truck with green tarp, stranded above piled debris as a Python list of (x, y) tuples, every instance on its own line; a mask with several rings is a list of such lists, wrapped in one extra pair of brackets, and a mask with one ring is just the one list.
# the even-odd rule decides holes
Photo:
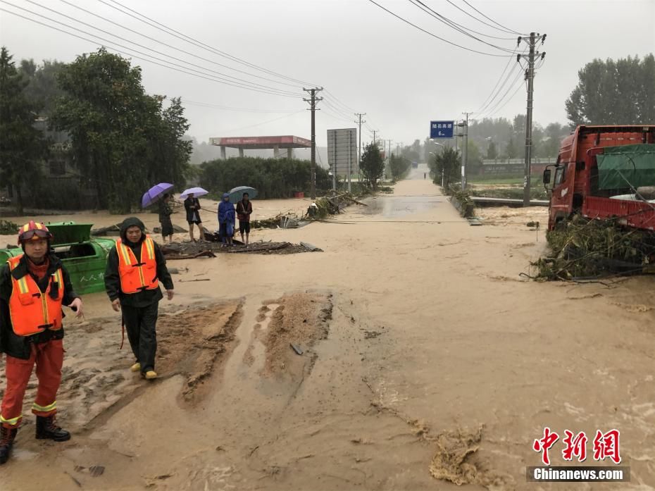
[(655, 199), (639, 191), (655, 187), (655, 125), (578, 126), (544, 170), (544, 185), (551, 190), (549, 230), (576, 213), (655, 230)]

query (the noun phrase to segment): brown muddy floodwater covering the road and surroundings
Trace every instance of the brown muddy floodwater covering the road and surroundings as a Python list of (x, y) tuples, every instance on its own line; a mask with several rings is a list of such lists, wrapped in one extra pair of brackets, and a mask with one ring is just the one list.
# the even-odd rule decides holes
[[(58, 397), (73, 437), (34, 439), (33, 379), (1, 489), (654, 490), (655, 279), (526, 280), (546, 245), (525, 223), (547, 211), (472, 227), (423, 172), (334, 223), (251, 237), (323, 252), (170, 261), (154, 383), (130, 373), (106, 296), (85, 297)], [(255, 201), (254, 218), (307, 205)], [(630, 483), (528, 483), (545, 427), (552, 465), (570, 464), (565, 430), (589, 437), (585, 465), (597, 430), (620, 430)]]

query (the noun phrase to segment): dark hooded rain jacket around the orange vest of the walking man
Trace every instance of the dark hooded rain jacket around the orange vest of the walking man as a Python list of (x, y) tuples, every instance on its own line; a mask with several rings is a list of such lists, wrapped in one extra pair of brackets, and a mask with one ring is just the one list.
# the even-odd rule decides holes
[[(127, 229), (137, 226), (141, 229), (142, 235), (141, 240), (136, 244), (129, 242), (127, 240)], [(123, 244), (132, 249), (132, 252), (135, 253), (137, 261), (141, 261), (141, 244), (145, 240), (145, 225), (139, 218), (125, 218), (123, 224), (120, 225), (120, 238), (123, 240)], [(163, 283), (166, 290), (173, 290), (173, 280), (170, 278), (170, 273), (168, 273), (168, 268), (166, 267), (166, 258), (164, 258), (161, 249), (155, 243), (155, 261), (157, 262), (157, 278)], [(121, 305), (127, 305), (131, 307), (146, 307), (155, 302), (159, 302), (163, 299), (163, 294), (161, 294), (161, 288), (156, 288), (155, 290), (143, 290), (142, 292), (137, 292), (133, 294), (125, 294), (120, 290), (120, 275), (118, 274), (118, 251), (116, 246), (111, 248), (109, 255), (107, 256), (107, 268), (105, 271), (105, 290), (109, 295), (109, 299), (113, 302), (116, 299), (120, 299)]]

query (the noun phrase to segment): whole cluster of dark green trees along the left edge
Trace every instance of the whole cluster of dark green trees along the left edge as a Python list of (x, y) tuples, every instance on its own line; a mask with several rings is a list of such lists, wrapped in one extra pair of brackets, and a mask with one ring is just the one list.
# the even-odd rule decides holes
[[(0, 53), (0, 178), (18, 213), (34, 207), (75, 208), (82, 189), (94, 207), (128, 213), (157, 182), (185, 186), (191, 142), (179, 98), (146, 94), (139, 66), (101, 48), (73, 63), (23, 60)], [(37, 122), (45, 123), (47, 131)], [(54, 144), (54, 132), (65, 142)], [(55, 154), (77, 180), (53, 189), (44, 163)], [(70, 175), (69, 175), (70, 177)]]

